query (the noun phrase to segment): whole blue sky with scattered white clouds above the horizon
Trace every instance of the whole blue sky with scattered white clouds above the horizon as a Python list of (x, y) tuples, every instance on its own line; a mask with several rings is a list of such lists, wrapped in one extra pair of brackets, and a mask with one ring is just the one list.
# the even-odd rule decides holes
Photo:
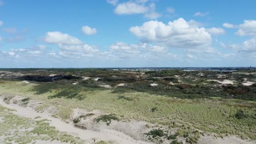
[(0, 68), (256, 67), (255, 5), (0, 0)]

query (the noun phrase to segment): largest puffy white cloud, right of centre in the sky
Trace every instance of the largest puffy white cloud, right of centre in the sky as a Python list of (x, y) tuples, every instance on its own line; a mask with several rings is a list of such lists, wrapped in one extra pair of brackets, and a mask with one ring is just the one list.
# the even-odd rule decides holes
[(130, 32), (143, 41), (157, 42), (172, 47), (196, 48), (211, 44), (211, 34), (203, 27), (190, 25), (182, 18), (173, 22), (148, 21), (130, 28)]

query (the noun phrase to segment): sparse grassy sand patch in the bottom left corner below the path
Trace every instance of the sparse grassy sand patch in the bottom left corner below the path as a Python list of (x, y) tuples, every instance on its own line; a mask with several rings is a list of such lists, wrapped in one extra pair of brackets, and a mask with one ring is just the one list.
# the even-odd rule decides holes
[[(83, 143), (78, 137), (55, 130), (45, 120), (34, 121), (14, 115), (10, 109), (0, 106), (0, 143), (34, 143), (42, 141), (61, 141)], [(36, 117), (37, 118), (37, 117)]]

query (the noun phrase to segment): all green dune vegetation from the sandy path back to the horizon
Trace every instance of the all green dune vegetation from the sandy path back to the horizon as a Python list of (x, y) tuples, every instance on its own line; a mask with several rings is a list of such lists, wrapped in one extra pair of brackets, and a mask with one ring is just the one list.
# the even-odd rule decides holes
[[(36, 73), (33, 69), (17, 71), (22, 74)], [(170, 136), (170, 140), (174, 136), (185, 137), (189, 143), (195, 143), (202, 135), (195, 132), (196, 129), (217, 136), (237, 135), (243, 139), (256, 140), (256, 84), (242, 85), (245, 79), (256, 82), (255, 71), (226, 73), (162, 70), (144, 73), (106, 69), (45, 69), (37, 73), (44, 76), (50, 74), (89, 78), (54, 82), (30, 81), (29, 85), (16, 79), (4, 79), (0, 80), (0, 94), (10, 95), (5, 98), (6, 101), (14, 95), (26, 96), (24, 102), (43, 101), (36, 108), (38, 111), (55, 106), (59, 111), (54, 116), (62, 119), (70, 119), (72, 109), (79, 108), (115, 114), (102, 115), (95, 119), (96, 122), (110, 124), (114, 120), (129, 122), (136, 119), (164, 125), (176, 129), (176, 134), (165, 135), (167, 139)], [(95, 77), (100, 79), (96, 81)], [(232, 80), (235, 83), (222, 85), (209, 80)], [(77, 85), (73, 85), (74, 82)], [(119, 83), (125, 83), (125, 86), (117, 86)], [(151, 83), (157, 83), (158, 86), (150, 86)], [(88, 116), (72, 120), (78, 123), (81, 118), (86, 117)]]

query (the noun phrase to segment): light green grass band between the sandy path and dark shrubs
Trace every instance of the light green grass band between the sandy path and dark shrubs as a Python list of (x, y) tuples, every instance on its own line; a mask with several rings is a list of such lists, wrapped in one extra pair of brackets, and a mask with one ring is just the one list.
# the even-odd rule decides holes
[(75, 85), (54, 88), (50, 87), (51, 83), (48, 88), (43, 85), (2, 80), (0, 93), (41, 100), (43, 105), (37, 107), (38, 111), (54, 105), (60, 110), (55, 117), (61, 119), (69, 119), (74, 108), (101, 110), (116, 115), (121, 121), (136, 119), (177, 128), (179, 136), (194, 135), (195, 129), (199, 129), (217, 136), (238, 135), (256, 140), (255, 101), (220, 97), (179, 99), (150, 92), (118, 93), (111, 88), (79, 86), (77, 91)]

